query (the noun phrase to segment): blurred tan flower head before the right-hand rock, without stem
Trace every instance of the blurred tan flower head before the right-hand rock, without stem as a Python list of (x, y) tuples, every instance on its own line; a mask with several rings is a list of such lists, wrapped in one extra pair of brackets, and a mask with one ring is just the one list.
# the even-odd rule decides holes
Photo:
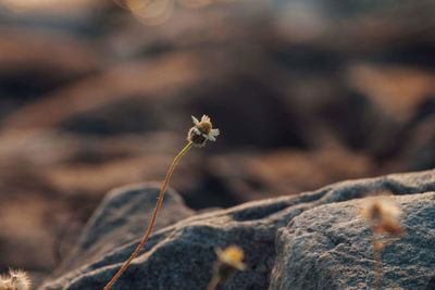
[(400, 213), (400, 209), (385, 197), (368, 198), (361, 209), (361, 215), (372, 231), (378, 235), (402, 235), (403, 229), (398, 220)]

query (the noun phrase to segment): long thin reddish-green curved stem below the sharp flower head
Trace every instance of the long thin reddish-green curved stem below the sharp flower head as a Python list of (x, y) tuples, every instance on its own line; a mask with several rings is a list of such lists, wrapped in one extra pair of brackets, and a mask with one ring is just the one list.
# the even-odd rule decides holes
[(171, 180), (172, 175), (174, 174), (175, 167), (178, 164), (179, 160), (190, 150), (190, 148), (194, 146), (192, 142), (188, 142), (185, 148), (179, 151), (179, 153), (175, 156), (174, 161), (171, 164), (171, 167), (169, 168), (166, 176), (163, 180), (162, 188), (160, 189), (159, 193), (159, 199), (157, 201), (154, 211), (151, 216), (151, 220), (149, 223), (148, 229), (144, 235), (144, 238), (141, 239), (140, 243), (137, 245), (136, 250), (133, 252), (133, 254), (124, 262), (124, 264), (121, 266), (121, 268), (117, 270), (117, 273), (112, 277), (112, 279), (108, 282), (108, 285), (104, 287), (104, 290), (110, 290), (113, 285), (116, 282), (116, 280), (121, 277), (121, 275), (128, 268), (129, 264), (132, 263), (133, 260), (137, 257), (139, 254), (140, 250), (147, 244), (147, 241), (149, 237), (151, 236), (152, 229), (154, 228), (154, 224), (157, 220), (157, 215), (160, 210), (160, 207), (163, 204), (163, 198), (164, 198), (164, 192), (166, 191), (167, 185)]

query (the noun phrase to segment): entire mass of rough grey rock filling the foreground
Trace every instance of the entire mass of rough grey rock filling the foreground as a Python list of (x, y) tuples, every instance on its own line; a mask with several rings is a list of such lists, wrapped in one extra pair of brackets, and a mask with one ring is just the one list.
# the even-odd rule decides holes
[[(116, 289), (206, 289), (214, 249), (238, 244), (246, 272), (220, 289), (373, 289), (371, 232), (361, 201), (389, 192), (405, 237), (383, 252), (383, 289), (435, 289), (435, 171), (326, 186), (298, 196), (195, 213), (169, 192), (159, 230)], [(158, 190), (115, 190), (90, 218), (70, 257), (40, 290), (102, 289), (141, 237)]]

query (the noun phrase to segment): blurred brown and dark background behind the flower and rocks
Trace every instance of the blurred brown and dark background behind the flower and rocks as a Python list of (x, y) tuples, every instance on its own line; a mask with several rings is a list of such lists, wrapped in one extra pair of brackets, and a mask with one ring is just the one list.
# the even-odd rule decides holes
[[(128, 11), (129, 10), (129, 11)], [(0, 270), (39, 277), (104, 193), (197, 210), (435, 166), (435, 1), (0, 0)]]

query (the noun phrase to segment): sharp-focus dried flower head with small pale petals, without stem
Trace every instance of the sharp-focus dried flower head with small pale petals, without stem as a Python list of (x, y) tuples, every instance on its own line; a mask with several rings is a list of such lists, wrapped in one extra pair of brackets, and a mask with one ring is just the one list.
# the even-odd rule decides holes
[(192, 142), (196, 147), (204, 147), (207, 141), (215, 141), (219, 136), (219, 129), (213, 129), (213, 125), (210, 122), (210, 117), (203, 115), (201, 121), (191, 116), (194, 121), (194, 127), (189, 129), (187, 135), (187, 141)]

